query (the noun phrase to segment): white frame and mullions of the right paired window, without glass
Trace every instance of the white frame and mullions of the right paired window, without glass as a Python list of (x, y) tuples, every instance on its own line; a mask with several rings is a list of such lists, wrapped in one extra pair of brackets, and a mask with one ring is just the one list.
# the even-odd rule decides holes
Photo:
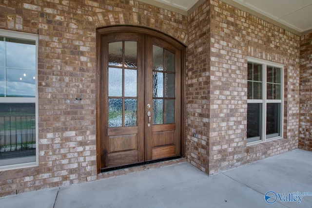
[[(250, 141), (247, 142), (247, 146), (249, 145), (254, 145), (254, 144), (259, 144), (267, 141), (272, 141), (276, 139), (281, 139), (284, 138), (284, 132), (283, 132), (283, 126), (284, 126), (284, 65), (280, 63), (275, 63), (272, 61), (267, 61), (259, 58), (254, 58), (254, 57), (248, 57), (247, 58), (248, 62), (253, 62), (256, 64), (261, 64), (262, 65), (262, 99), (247, 99), (247, 104), (248, 103), (261, 103), (262, 105), (262, 113), (261, 113), (261, 135), (260, 135), (260, 140), (257, 141)], [(276, 67), (281, 69), (281, 99), (267, 99), (267, 66), (271, 67)], [(270, 138), (267, 138), (266, 135), (266, 129), (267, 129), (267, 104), (268, 103), (280, 103), (280, 126), (279, 126), (279, 134), (277, 136), (273, 136)], [(247, 140), (246, 140), (247, 141)]]

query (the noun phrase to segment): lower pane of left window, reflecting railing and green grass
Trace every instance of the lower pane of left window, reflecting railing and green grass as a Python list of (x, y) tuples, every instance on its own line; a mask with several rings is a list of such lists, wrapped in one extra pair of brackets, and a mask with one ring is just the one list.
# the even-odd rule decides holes
[(0, 103), (0, 166), (36, 161), (35, 103)]

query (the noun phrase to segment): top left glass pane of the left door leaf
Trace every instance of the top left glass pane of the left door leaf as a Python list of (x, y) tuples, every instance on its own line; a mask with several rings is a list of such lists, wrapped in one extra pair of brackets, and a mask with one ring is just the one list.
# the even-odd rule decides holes
[(108, 65), (122, 66), (122, 41), (108, 43)]

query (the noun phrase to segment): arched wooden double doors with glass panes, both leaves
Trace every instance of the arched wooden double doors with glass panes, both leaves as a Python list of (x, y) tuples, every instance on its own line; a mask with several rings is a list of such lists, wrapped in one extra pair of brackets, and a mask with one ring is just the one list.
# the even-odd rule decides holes
[(182, 49), (127, 31), (98, 40), (98, 170), (181, 155)]

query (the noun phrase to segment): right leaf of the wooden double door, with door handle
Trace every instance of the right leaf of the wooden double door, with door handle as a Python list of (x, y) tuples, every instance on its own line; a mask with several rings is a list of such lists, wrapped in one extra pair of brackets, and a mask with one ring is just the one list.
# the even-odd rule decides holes
[[(181, 154), (181, 52), (157, 38), (147, 38), (146, 160)], [(147, 113), (146, 113), (147, 115)]]

